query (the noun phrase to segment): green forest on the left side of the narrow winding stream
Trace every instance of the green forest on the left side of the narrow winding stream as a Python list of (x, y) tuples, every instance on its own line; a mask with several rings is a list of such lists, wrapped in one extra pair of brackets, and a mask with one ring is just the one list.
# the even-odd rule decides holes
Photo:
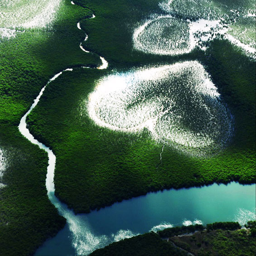
[[(76, 23), (91, 11), (66, 0), (53, 29), (27, 29), (0, 42), (0, 149), (7, 159), (0, 189), (0, 255), (31, 255), (65, 225), (45, 188), (47, 154), (18, 130), (21, 117), (49, 78), (68, 66), (100, 59), (81, 52)], [(64, 16), (64, 17), (63, 17)]]

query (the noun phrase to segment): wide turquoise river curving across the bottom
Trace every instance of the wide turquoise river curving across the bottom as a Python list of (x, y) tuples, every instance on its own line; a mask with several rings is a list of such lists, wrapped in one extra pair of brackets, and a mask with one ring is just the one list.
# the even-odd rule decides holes
[(213, 184), (148, 193), (89, 214), (74, 215), (69, 211), (68, 218), (72, 221), (35, 255), (85, 255), (121, 238), (149, 232), (153, 227), (157, 230), (159, 224), (161, 227), (194, 221), (244, 224), (255, 219), (255, 189), (255, 184)]

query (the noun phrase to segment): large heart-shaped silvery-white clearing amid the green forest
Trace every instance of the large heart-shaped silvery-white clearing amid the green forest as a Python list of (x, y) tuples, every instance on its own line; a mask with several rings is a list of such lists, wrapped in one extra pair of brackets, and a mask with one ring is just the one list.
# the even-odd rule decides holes
[(196, 61), (140, 68), (100, 79), (88, 114), (111, 130), (150, 130), (152, 138), (188, 155), (211, 155), (232, 136), (232, 116)]

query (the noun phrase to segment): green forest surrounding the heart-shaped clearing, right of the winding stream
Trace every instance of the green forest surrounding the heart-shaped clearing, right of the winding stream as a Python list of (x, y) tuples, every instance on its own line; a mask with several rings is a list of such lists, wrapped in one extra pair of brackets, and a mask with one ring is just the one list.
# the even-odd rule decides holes
[[(159, 12), (158, 1), (82, 1), (96, 14), (81, 22), (89, 38), (85, 47), (102, 55), (108, 70), (67, 72), (46, 88), (29, 116), (29, 129), (57, 156), (58, 197), (76, 213), (111, 205), (164, 188), (239, 181), (255, 177), (255, 62), (227, 41), (215, 40), (207, 52), (154, 56), (133, 50), (132, 32), (138, 22)], [(120, 22), (121, 20), (121, 22)], [(199, 60), (232, 111), (235, 130), (225, 150), (211, 158), (188, 157), (156, 144), (145, 129), (139, 135), (96, 126), (87, 116), (86, 102), (95, 81), (129, 67)], [(72, 97), (71, 97), (72, 96)], [(158, 167), (158, 168), (157, 168)]]

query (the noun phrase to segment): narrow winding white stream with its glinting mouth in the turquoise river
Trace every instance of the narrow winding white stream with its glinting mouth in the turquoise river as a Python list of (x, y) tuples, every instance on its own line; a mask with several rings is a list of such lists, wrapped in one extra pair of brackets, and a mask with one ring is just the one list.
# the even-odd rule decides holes
[[(74, 4), (74, 3), (72, 3)], [(92, 15), (92, 18), (94, 18), (95, 15)], [(81, 29), (80, 23), (77, 23), (77, 28)], [(87, 40), (87, 35), (85, 40)], [(80, 45), (82, 48), (82, 46)], [(84, 50), (82, 48), (82, 50)], [(86, 51), (86, 50), (84, 50)], [(102, 65), (98, 67), (98, 69), (104, 69), (107, 68), (108, 63), (103, 58), (100, 57), (102, 61)], [(82, 68), (89, 68), (89, 67), (82, 67)], [(53, 205), (58, 209), (58, 212), (61, 216), (65, 217), (67, 219), (68, 227), (70, 232), (72, 233), (72, 246), (76, 250), (76, 254), (78, 255), (84, 255), (89, 254), (90, 252), (94, 251), (95, 249), (102, 247), (103, 245), (107, 245), (110, 242), (113, 242), (120, 237), (122, 237), (122, 232), (117, 234), (116, 236), (112, 238), (107, 238), (106, 236), (94, 236), (91, 232), (90, 225), (88, 223), (87, 217), (80, 217), (78, 215), (75, 215), (72, 210), (68, 209), (67, 205), (64, 203), (61, 203), (58, 198), (54, 195), (55, 187), (54, 187), (54, 170), (56, 165), (56, 156), (53, 154), (53, 151), (50, 150), (49, 147), (43, 145), (43, 143), (39, 142), (34, 138), (34, 136), (29, 132), (29, 129), (27, 128), (26, 124), (26, 118), (30, 114), (30, 112), (34, 109), (35, 106), (37, 106), (41, 96), (43, 95), (43, 92), (45, 88), (49, 85), (49, 83), (53, 82), (56, 78), (58, 78), (60, 75), (62, 75), (63, 72), (72, 72), (73, 68), (67, 68), (63, 70), (62, 72), (58, 72), (56, 75), (54, 75), (51, 79), (49, 79), (48, 83), (41, 89), (39, 92), (39, 95), (34, 100), (34, 103), (29, 108), (29, 111), (25, 113), (25, 115), (21, 118), (19, 123), (19, 131), (24, 137), (26, 137), (31, 143), (38, 145), (40, 149), (43, 149), (48, 154), (48, 167), (47, 167), (47, 175), (46, 175), (46, 181), (45, 185), (47, 188), (47, 194), (48, 198), (53, 203)], [(0, 152), (1, 153), (1, 152)], [(1, 157), (3, 158), (3, 157)], [(0, 161), (2, 163), (2, 161)], [(128, 232), (129, 233), (129, 232)], [(128, 233), (126, 233), (125, 236), (128, 236)], [(129, 236), (132, 236), (129, 233)], [(119, 237), (119, 238), (118, 238)], [(120, 238), (121, 239), (121, 238)]]

